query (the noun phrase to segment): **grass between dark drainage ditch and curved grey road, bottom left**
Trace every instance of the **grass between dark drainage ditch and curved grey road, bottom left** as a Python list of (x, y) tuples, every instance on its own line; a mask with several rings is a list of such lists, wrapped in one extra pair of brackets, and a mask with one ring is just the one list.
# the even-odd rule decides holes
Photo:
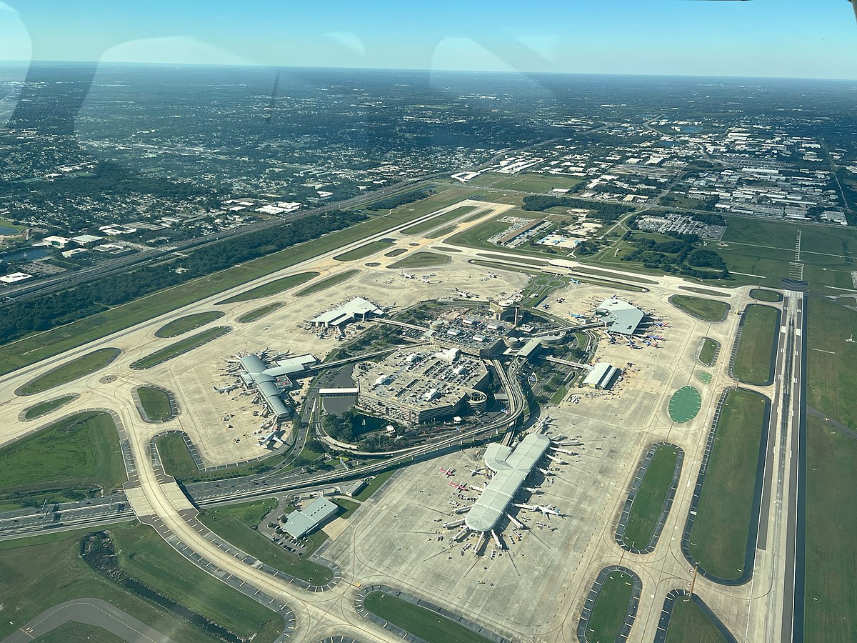
[[(118, 529), (114, 527), (115, 531)], [(0, 639), (56, 604), (72, 598), (102, 598), (150, 628), (168, 634), (176, 643), (218, 643), (219, 639), (93, 571), (80, 556), (80, 540), (87, 531), (0, 542), (5, 615), (0, 619)], [(151, 538), (163, 543), (154, 532)]]

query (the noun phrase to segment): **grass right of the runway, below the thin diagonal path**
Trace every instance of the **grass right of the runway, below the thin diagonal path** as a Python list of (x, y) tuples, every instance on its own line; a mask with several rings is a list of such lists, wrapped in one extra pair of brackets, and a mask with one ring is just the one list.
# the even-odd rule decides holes
[(810, 416), (806, 428), (806, 643), (857, 640), (857, 577), (850, 571), (857, 567), (854, 533), (857, 442)]

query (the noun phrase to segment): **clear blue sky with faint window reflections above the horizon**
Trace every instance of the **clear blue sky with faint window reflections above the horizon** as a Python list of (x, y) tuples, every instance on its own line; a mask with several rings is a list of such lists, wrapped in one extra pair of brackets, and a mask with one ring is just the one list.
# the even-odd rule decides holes
[(857, 80), (857, 21), (847, 0), (0, 0), (0, 60)]

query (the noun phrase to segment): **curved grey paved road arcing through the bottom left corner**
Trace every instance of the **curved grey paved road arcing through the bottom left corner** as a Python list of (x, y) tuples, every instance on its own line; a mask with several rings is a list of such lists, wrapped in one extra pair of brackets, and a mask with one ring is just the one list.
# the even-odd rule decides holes
[(172, 643), (169, 636), (153, 630), (146, 623), (100, 598), (75, 598), (54, 605), (0, 643), (28, 643), (69, 621), (105, 629), (129, 643)]

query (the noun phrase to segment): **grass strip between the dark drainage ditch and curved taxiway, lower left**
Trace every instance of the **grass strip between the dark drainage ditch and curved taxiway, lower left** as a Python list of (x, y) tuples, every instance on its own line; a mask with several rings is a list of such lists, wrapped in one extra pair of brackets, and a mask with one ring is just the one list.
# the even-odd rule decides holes
[(166, 598), (239, 636), (258, 632), (258, 640), (273, 640), (282, 631), (276, 613), (184, 560), (152, 527), (122, 525), (109, 532), (123, 571)]

